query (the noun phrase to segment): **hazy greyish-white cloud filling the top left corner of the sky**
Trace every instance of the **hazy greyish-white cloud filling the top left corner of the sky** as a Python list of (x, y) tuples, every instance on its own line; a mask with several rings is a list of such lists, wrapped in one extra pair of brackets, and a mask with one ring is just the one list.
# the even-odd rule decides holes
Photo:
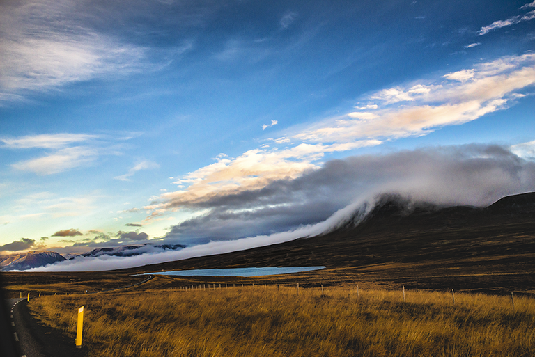
[(0, 98), (139, 71), (146, 49), (97, 31), (77, 1), (0, 6)]

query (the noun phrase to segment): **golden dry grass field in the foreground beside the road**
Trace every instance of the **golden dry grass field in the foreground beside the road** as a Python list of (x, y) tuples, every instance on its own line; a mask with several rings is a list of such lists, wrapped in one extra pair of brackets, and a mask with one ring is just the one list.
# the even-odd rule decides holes
[(29, 306), (90, 356), (530, 356), (535, 301), (344, 287), (47, 296)]

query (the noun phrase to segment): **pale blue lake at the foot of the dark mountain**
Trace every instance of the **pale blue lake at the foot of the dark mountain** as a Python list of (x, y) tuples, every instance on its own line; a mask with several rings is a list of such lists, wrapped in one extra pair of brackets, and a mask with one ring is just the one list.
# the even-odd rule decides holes
[[(178, 276), (266, 276), (289, 273), (302, 273), (303, 271), (313, 271), (325, 269), (325, 267), (287, 267), (287, 268), (231, 268), (231, 269), (194, 269), (194, 270), (173, 270), (150, 273), (154, 275), (178, 275)], [(146, 273), (145, 275), (149, 275)]]

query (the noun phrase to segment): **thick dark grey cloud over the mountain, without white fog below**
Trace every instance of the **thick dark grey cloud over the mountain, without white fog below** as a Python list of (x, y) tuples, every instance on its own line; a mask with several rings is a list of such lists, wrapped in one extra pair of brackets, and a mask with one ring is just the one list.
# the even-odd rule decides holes
[(499, 145), (363, 155), (327, 161), (295, 180), (189, 204), (209, 212), (172, 226), (164, 239), (201, 244), (292, 230), (378, 193), (439, 205), (484, 206), (526, 191), (535, 191), (535, 164)]

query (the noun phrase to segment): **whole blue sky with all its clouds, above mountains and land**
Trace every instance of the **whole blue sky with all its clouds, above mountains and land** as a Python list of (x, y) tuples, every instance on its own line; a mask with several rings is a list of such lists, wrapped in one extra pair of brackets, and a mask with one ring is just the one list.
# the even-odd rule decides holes
[(534, 47), (529, 0), (3, 0), (0, 251), (178, 259), (535, 191)]

